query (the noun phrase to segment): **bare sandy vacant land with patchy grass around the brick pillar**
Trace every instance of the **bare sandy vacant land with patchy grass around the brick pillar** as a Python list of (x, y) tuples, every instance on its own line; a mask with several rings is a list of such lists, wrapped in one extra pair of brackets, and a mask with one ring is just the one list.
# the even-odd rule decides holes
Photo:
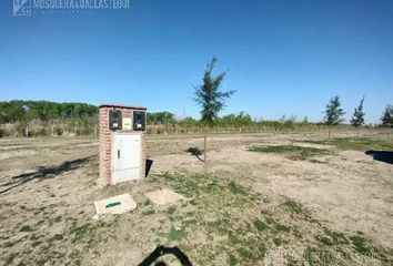
[[(184, 152), (202, 141), (148, 136), (151, 175), (99, 188), (95, 139), (0, 140), (0, 264), (138, 265), (162, 244), (193, 265), (392, 265), (392, 140), (215, 135), (208, 163)], [(187, 200), (154, 206), (160, 187)], [(138, 209), (92, 219), (121, 193)]]

